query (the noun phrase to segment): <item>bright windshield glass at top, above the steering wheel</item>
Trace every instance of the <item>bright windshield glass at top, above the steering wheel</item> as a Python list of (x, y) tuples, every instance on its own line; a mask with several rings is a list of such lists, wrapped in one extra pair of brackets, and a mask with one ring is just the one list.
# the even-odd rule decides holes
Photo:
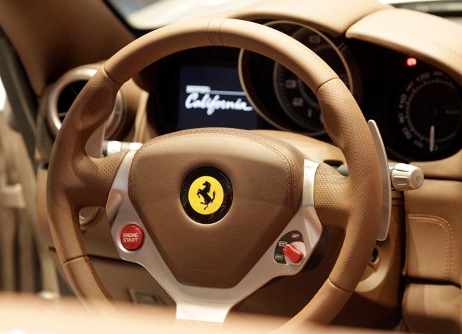
[[(152, 30), (169, 23), (207, 17), (237, 10), (261, 0), (109, 0), (132, 28)], [(380, 0), (383, 3), (428, 2), (432, 0)]]

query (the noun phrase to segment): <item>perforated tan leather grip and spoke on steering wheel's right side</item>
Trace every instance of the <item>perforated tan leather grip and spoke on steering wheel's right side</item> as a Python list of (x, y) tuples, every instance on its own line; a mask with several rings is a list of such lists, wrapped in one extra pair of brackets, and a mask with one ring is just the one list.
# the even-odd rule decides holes
[[(321, 165), (314, 187), (314, 205), (324, 225), (345, 226), (345, 241), (330, 280), (353, 291), (368, 263), (379, 228), (382, 186), (379, 160), (368, 125), (340, 79), (317, 92), (325, 129), (348, 164), (348, 178)], [(365, 225), (365, 222), (368, 222)]]

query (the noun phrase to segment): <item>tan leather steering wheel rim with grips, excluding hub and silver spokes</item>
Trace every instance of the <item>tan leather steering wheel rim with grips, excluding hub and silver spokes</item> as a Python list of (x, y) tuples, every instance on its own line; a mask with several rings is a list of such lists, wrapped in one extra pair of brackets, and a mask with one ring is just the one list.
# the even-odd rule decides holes
[(328, 324), (348, 301), (374, 247), (381, 215), (379, 158), (361, 109), (337, 74), (319, 56), (272, 28), (236, 19), (201, 19), (169, 25), (114, 54), (74, 101), (57, 136), (48, 171), (50, 229), (66, 276), (82, 300), (111, 300), (83, 244), (78, 213), (105, 207), (126, 152), (90, 158), (86, 143), (110, 116), (121, 85), (150, 63), (203, 46), (244, 48), (281, 63), (317, 95), (325, 128), (342, 150), (350, 175), (321, 164), (314, 182), (314, 207), (324, 226), (345, 229), (339, 258), (328, 280), (292, 324)]

